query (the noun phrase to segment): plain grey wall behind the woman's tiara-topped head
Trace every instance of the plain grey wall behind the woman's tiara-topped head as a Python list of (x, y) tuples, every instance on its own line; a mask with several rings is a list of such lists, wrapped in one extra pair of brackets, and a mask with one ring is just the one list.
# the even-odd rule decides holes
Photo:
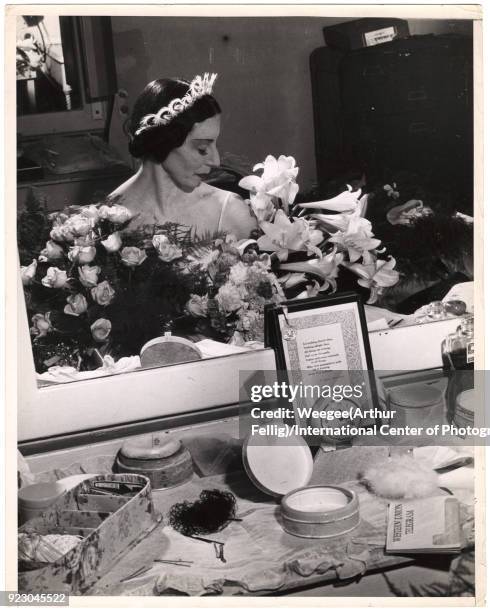
[[(316, 181), (309, 56), (335, 18), (113, 17), (119, 87), (130, 105), (147, 82), (218, 72), (223, 108), (219, 148), (253, 164), (267, 153), (293, 155), (299, 183)], [(470, 33), (470, 21), (409, 20), (411, 34)], [(129, 160), (122, 120), (111, 142)]]

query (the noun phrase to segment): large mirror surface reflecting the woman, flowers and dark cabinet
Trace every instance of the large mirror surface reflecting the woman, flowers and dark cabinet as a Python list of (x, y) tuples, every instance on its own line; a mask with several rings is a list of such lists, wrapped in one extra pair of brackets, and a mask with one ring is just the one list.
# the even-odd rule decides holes
[[(290, 299), (360, 293), (372, 332), (471, 312), (471, 22), (343, 48), (332, 82), (321, 67), (339, 50), (322, 32), (339, 20), (267, 21), (270, 66), (261, 18), (111, 22), (118, 84), (91, 106), (98, 129), (46, 122), (19, 140), (40, 381), (260, 348), (264, 306)], [(85, 102), (68, 66), (90, 59), (82, 48), (105, 66), (106, 45), (76, 32), (19, 18), (19, 117)]]

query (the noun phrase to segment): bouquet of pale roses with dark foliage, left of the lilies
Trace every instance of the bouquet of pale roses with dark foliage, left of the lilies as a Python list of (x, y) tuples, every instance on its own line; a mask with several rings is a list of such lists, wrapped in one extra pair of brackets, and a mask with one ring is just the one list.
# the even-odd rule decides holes
[(30, 201), (19, 219), (21, 278), (36, 369), (95, 369), (138, 355), (207, 287), (198, 241), (174, 223), (129, 229), (117, 199), (47, 214)]

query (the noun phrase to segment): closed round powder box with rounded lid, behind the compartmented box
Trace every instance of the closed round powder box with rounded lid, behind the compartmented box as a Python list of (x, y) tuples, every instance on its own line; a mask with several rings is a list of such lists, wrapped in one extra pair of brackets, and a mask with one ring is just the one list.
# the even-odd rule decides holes
[(117, 455), (116, 466), (119, 473), (146, 476), (153, 489), (175, 487), (194, 474), (188, 449), (165, 434), (128, 440)]

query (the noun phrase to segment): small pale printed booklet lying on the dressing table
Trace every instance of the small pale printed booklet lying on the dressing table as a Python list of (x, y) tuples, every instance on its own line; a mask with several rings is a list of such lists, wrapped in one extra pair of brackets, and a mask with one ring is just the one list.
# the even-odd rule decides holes
[(455, 553), (464, 546), (459, 501), (439, 495), (388, 508), (387, 553)]

